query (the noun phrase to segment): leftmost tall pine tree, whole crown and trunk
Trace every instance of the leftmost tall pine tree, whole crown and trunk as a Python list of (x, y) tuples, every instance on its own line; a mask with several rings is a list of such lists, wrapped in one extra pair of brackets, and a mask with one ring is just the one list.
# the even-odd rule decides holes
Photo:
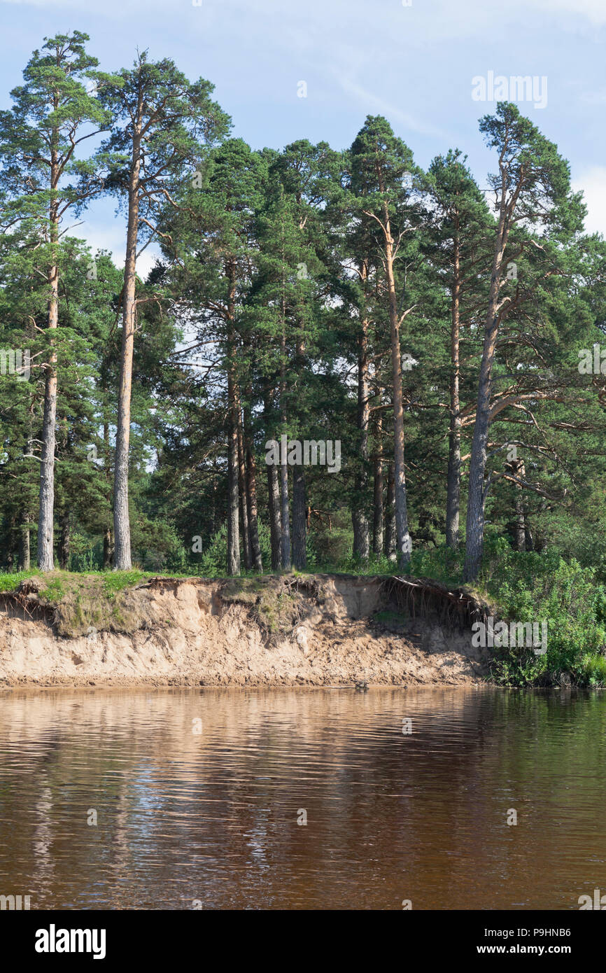
[[(10, 111), (0, 113), (1, 182), (8, 195), (3, 224), (20, 222), (37, 235), (37, 271), (48, 287), (48, 346), (45, 362), (44, 426), (40, 464), (38, 566), (53, 569), (54, 450), (56, 418), (55, 331), (59, 318), (60, 238), (65, 220), (89, 197), (93, 169), (79, 161), (77, 147), (108, 124), (87, 82), (101, 76), (87, 54), (87, 34), (57, 34), (35, 51), (23, 71), (24, 84), (12, 91)], [(75, 173), (81, 179), (74, 184)]]

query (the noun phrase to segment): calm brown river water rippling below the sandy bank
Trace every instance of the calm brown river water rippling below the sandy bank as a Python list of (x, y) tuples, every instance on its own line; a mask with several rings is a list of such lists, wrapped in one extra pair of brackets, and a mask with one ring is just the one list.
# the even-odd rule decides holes
[(16, 690), (0, 696), (0, 895), (577, 910), (606, 891), (605, 745), (597, 693)]

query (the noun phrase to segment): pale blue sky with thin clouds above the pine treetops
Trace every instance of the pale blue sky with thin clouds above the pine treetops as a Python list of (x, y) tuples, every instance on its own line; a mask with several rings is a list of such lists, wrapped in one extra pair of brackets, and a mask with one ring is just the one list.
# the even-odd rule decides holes
[[(478, 120), (499, 78), (517, 100), (510, 79), (529, 77), (535, 95), (518, 107), (570, 162), (588, 232), (606, 234), (606, 0), (0, 0), (2, 107), (31, 52), (73, 29), (103, 70), (138, 48), (206, 78), (253, 148), (343, 149), (384, 115), (418, 164), (459, 148), (482, 188), (494, 163)], [(74, 235), (124, 264), (113, 202), (96, 202)], [(146, 251), (140, 272), (153, 262)]]

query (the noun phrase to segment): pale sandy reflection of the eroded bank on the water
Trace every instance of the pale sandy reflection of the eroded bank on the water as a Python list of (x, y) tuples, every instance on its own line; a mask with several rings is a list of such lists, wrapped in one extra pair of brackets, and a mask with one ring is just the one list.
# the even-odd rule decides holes
[[(279, 749), (288, 740), (318, 740), (338, 749), (352, 737), (402, 733), (403, 720), (424, 725), (454, 722), (494, 691), (479, 687), (422, 689), (152, 690), (96, 689), (44, 693), (16, 690), (0, 696), (0, 738), (5, 744), (33, 744), (31, 756), (49, 741), (83, 739), (97, 747), (119, 744), (134, 756), (153, 754), (160, 762), (199, 760), (217, 747)], [(500, 695), (500, 694), (499, 694)], [(414, 732), (414, 724), (413, 724)]]

